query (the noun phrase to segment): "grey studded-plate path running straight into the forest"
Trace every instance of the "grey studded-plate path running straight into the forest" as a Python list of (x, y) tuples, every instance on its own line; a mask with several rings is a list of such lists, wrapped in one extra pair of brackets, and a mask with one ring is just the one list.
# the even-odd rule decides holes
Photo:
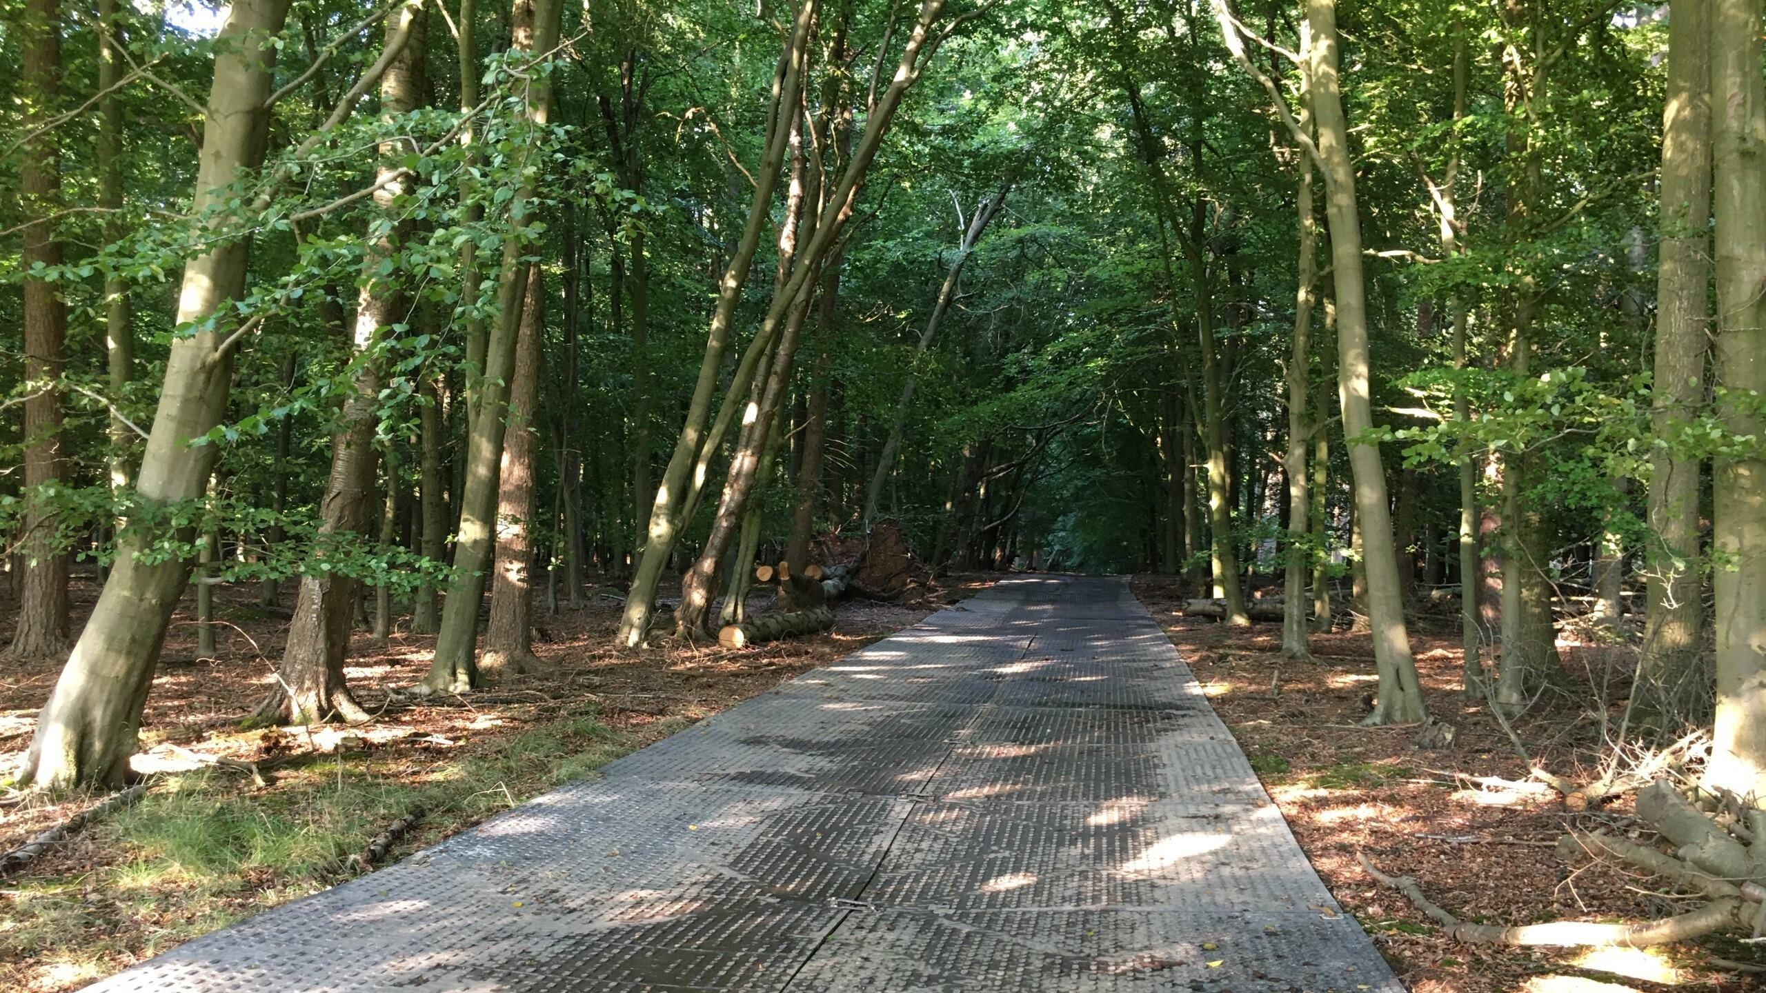
[(1067, 576), (92, 989), (1402, 991), (1128, 585)]

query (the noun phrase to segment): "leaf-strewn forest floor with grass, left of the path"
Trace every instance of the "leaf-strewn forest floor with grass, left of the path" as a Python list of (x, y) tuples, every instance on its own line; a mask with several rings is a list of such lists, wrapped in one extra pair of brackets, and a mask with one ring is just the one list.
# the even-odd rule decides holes
[[(223, 588), (219, 657), (205, 661), (185, 597), (136, 762), (154, 786), (0, 882), (0, 989), (76, 989), (336, 885), (360, 871), (351, 857), (371, 839), (420, 811), (380, 859), (397, 860), (991, 583), (955, 576), (913, 603), (846, 601), (819, 636), (742, 650), (666, 641), (643, 654), (609, 647), (620, 590), (599, 587), (583, 610), (537, 615), (535, 652), (549, 673), (422, 703), (387, 693), (417, 682), (434, 648), (434, 636), (410, 634), (401, 617), (387, 643), (353, 636), (350, 684), (376, 714), (358, 728), (253, 730), (242, 719), (272, 684), (293, 588), (270, 611), (254, 588)], [(74, 580), (76, 625), (95, 595), (90, 580)], [(0, 610), (0, 638), (11, 638), (11, 617)], [(0, 666), (0, 770), (30, 742), (60, 663)], [(0, 852), (94, 802), (0, 792)]]

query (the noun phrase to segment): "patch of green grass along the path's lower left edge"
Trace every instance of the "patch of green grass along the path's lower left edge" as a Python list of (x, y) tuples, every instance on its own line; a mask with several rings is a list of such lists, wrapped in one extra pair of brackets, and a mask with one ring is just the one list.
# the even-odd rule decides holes
[(39, 981), (78, 986), (350, 878), (350, 857), (413, 809), (424, 816), (387, 862), (592, 776), (636, 744), (585, 709), (417, 774), (396, 754), (374, 753), (284, 765), (261, 790), (223, 770), (168, 776), (132, 807), (87, 829), (85, 841), (113, 853), (102, 866), (11, 880), (0, 959), (30, 963)]

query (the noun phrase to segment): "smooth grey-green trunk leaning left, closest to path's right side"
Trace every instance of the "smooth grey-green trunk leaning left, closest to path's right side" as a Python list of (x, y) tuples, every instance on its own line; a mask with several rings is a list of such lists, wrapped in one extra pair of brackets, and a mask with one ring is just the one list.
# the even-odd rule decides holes
[(1416, 663), (1411, 659), (1409, 631), (1404, 627), (1404, 597), (1392, 548), (1392, 516), (1386, 511), (1386, 474), (1377, 442), (1367, 440), (1374, 429), (1374, 413), (1369, 398), (1362, 219), (1356, 214), (1349, 125), (1337, 87), (1337, 2), (1307, 0), (1307, 19), (1312, 25), (1312, 48), (1307, 55), (1312, 71), (1312, 117), (1317, 122), (1332, 274), (1337, 284), (1337, 389), (1344, 436), (1349, 443), (1349, 468), (1355, 474), (1355, 509), (1362, 525), (1367, 606), (1374, 625), (1374, 663), (1379, 670), (1377, 703), (1367, 723), (1409, 724), (1423, 721), (1429, 714), (1416, 678)]

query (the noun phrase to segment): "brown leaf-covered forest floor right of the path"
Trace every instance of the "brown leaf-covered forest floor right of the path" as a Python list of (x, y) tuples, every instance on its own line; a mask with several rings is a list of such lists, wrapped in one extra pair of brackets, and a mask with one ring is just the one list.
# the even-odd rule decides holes
[[(1420, 618), (1411, 648), (1429, 710), (1459, 728), (1452, 747), (1416, 747), (1418, 728), (1363, 728), (1377, 677), (1369, 634), (1314, 634), (1312, 663), (1280, 656), (1280, 625), (1229, 629), (1180, 617), (1185, 592), (1164, 576), (1137, 576), (1134, 592), (1166, 627), (1220, 719), (1250, 756), (1270, 797), (1337, 901), (1355, 913), (1413, 993), (1619, 993), (1761, 989), (1761, 977), (1711, 958), (1761, 963), (1732, 940), (1662, 949), (1510, 949), (1448, 940), (1404, 896), (1370, 878), (1365, 853), (1386, 875), (1409, 875), (1462, 921), (1529, 924), (1558, 919), (1637, 921), (1674, 912), (1660, 883), (1612, 864), (1566, 866), (1554, 845), (1565, 829), (1635, 836), (1630, 799), (1584, 813), (1565, 809), (1543, 783), (1528, 783), (1501, 726), (1460, 700), (1457, 615)], [(1561, 643), (1577, 694), (1623, 703), (1634, 652)], [(1272, 693), (1279, 686), (1280, 693)], [(1570, 707), (1529, 714), (1521, 735), (1535, 760), (1577, 783), (1595, 758), (1595, 721)], [(1492, 788), (1498, 777), (1512, 788)]]

